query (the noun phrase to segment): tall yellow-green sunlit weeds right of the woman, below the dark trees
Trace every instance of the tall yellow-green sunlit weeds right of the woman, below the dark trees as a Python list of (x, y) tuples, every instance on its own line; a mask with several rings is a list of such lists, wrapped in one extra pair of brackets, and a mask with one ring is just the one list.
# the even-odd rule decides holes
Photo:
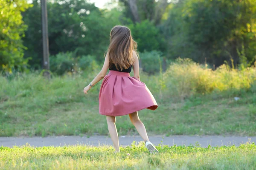
[(212, 91), (252, 90), (256, 82), (256, 68), (231, 69), (221, 65), (216, 71), (192, 61), (176, 59), (163, 74), (166, 92), (184, 99), (195, 94), (209, 94)]

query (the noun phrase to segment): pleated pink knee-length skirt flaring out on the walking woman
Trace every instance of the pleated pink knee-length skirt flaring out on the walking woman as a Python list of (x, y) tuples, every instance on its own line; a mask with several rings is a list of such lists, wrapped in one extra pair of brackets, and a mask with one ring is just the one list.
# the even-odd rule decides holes
[(105, 76), (99, 91), (99, 113), (107, 116), (122, 116), (142, 109), (156, 110), (154, 96), (145, 83), (129, 73), (110, 71)]

